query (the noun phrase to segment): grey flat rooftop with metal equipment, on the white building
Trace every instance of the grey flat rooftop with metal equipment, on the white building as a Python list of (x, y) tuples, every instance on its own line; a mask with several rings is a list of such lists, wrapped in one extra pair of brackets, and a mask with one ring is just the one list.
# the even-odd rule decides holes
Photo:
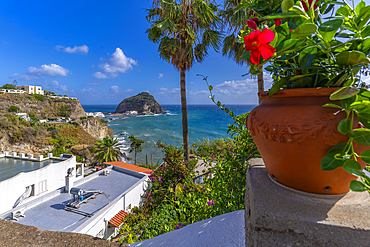
[[(112, 169), (108, 176), (98, 175), (89, 181), (75, 186), (86, 191), (103, 191), (103, 194), (98, 194), (95, 199), (90, 199), (88, 203), (81, 204), (79, 210), (89, 214), (98, 212), (143, 177), (144, 175), (138, 174), (135, 176)], [(84, 179), (88, 179), (88, 177)], [(72, 201), (72, 198), (73, 195), (69, 193), (58, 194), (26, 210), (24, 213), (25, 217), (20, 217), (17, 222), (23, 225), (36, 226), (41, 230), (71, 232), (90, 219), (88, 216), (64, 209)]]

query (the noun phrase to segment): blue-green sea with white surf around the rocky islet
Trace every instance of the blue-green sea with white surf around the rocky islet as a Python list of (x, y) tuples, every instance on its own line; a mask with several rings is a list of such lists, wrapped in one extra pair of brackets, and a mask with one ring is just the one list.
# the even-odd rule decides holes
[[(125, 162), (134, 163), (134, 153), (129, 153), (130, 141), (128, 137), (134, 135), (142, 139), (142, 152), (137, 154), (137, 163), (145, 164), (153, 162), (161, 163), (164, 157), (162, 151), (156, 146), (161, 140), (168, 145), (181, 146), (182, 125), (181, 106), (162, 105), (167, 114), (156, 115), (134, 115), (123, 118), (110, 117), (114, 113), (116, 105), (82, 105), (86, 112), (103, 112), (108, 120), (108, 128), (113, 129), (114, 137), (123, 144), (123, 150), (128, 159)], [(256, 105), (226, 105), (236, 115), (251, 111)], [(219, 109), (216, 105), (188, 105), (188, 128), (189, 142), (198, 142), (203, 139), (214, 140), (216, 138), (228, 137), (228, 125), (233, 120), (229, 114)]]

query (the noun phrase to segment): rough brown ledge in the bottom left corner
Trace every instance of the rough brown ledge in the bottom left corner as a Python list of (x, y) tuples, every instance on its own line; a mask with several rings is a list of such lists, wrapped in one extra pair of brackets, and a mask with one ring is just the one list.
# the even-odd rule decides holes
[[(53, 219), (50, 219), (53, 220)], [(58, 222), (55, 222), (58, 224)], [(0, 219), (0, 246), (128, 246), (78, 233), (41, 231)]]

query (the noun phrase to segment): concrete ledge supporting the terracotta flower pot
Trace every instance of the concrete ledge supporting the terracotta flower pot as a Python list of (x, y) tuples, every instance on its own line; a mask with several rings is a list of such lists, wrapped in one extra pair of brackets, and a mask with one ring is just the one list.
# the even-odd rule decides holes
[(369, 246), (369, 193), (318, 195), (284, 187), (249, 161), (246, 246)]

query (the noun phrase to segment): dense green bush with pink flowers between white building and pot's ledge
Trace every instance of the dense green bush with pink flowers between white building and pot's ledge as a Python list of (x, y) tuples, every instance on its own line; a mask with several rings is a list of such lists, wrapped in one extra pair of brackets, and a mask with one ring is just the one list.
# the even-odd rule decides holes
[[(135, 242), (155, 237), (187, 224), (235, 210), (244, 209), (247, 160), (260, 157), (245, 127), (247, 114), (234, 116), (229, 126), (230, 138), (204, 140), (196, 144), (202, 159), (214, 161), (206, 165), (211, 177), (195, 184), (193, 170), (197, 160), (184, 161), (183, 150), (157, 143), (165, 154), (164, 164), (149, 176), (150, 188), (124, 219), (122, 241)], [(171, 217), (159, 209), (166, 209)]]

